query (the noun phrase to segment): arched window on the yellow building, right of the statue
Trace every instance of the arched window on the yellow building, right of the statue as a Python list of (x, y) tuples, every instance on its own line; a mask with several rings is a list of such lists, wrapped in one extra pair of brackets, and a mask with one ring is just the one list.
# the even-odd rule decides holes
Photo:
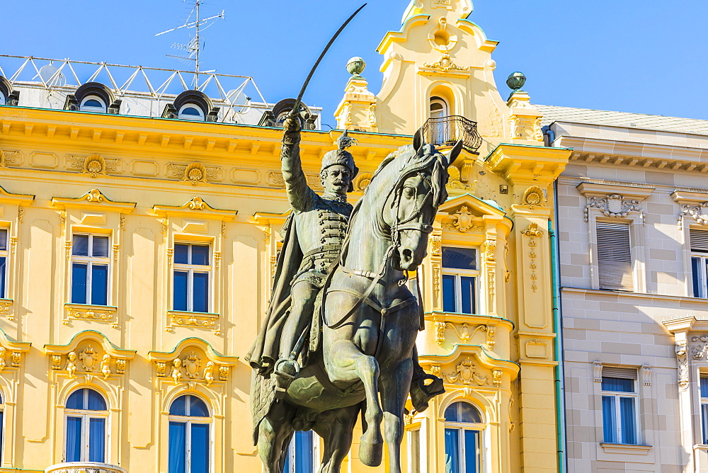
[(481, 431), (479, 411), (467, 402), (455, 402), (445, 409), (445, 473), (479, 473)]

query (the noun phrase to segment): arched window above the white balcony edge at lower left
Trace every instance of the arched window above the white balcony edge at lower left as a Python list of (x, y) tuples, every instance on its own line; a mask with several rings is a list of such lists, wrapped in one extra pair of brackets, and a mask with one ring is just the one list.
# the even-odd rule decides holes
[(66, 462), (105, 463), (108, 407), (93, 389), (77, 389), (67, 399)]

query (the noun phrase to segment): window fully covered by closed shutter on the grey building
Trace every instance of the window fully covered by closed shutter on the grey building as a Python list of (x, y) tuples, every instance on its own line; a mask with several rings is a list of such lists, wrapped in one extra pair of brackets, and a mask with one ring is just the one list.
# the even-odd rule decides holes
[(632, 240), (627, 222), (596, 222), (600, 289), (633, 291)]

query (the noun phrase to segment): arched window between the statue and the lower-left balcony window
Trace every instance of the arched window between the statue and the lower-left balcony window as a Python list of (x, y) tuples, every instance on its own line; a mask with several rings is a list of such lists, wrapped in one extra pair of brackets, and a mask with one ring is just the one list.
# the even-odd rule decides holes
[(185, 394), (170, 406), (169, 473), (208, 473), (211, 418), (207, 405)]

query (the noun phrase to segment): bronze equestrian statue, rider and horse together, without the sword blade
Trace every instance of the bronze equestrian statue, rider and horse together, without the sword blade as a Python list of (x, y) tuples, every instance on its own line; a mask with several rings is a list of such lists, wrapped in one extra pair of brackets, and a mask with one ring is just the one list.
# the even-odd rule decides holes
[(360, 460), (380, 464), (383, 421), (390, 471), (399, 473), (409, 391), (418, 411), (443, 392), (442, 380), (418, 365), (423, 312), (407, 272), (426, 256), (462, 142), (444, 156), (419, 130), (412, 146), (379, 166), (354, 209), (346, 193), (358, 169), (346, 134), (324, 157), (321, 197), (307, 186), (298, 143), (297, 120), (288, 119), (281, 157), (293, 213), (265, 324), (247, 357), (254, 440), (265, 471), (281, 473), (293, 433), (313, 430), (324, 438), (320, 471), (339, 472), (361, 411)]

